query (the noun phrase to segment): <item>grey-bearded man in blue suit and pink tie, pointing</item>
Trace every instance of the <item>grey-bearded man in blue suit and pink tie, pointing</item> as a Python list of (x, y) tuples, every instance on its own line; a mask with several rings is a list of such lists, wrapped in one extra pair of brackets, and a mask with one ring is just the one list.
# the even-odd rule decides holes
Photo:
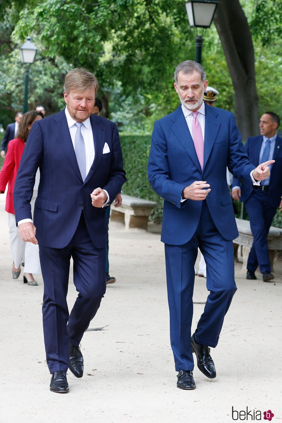
[[(175, 69), (181, 105), (155, 122), (148, 162), (149, 181), (164, 198), (165, 246), (170, 341), (178, 371), (177, 386), (194, 389), (194, 361), (216, 377), (209, 347), (216, 347), (223, 319), (236, 291), (232, 240), (238, 236), (226, 166), (252, 189), (269, 175), (246, 154), (234, 115), (203, 103), (205, 69), (192, 60)], [(194, 264), (200, 248), (210, 291), (191, 338)]]

